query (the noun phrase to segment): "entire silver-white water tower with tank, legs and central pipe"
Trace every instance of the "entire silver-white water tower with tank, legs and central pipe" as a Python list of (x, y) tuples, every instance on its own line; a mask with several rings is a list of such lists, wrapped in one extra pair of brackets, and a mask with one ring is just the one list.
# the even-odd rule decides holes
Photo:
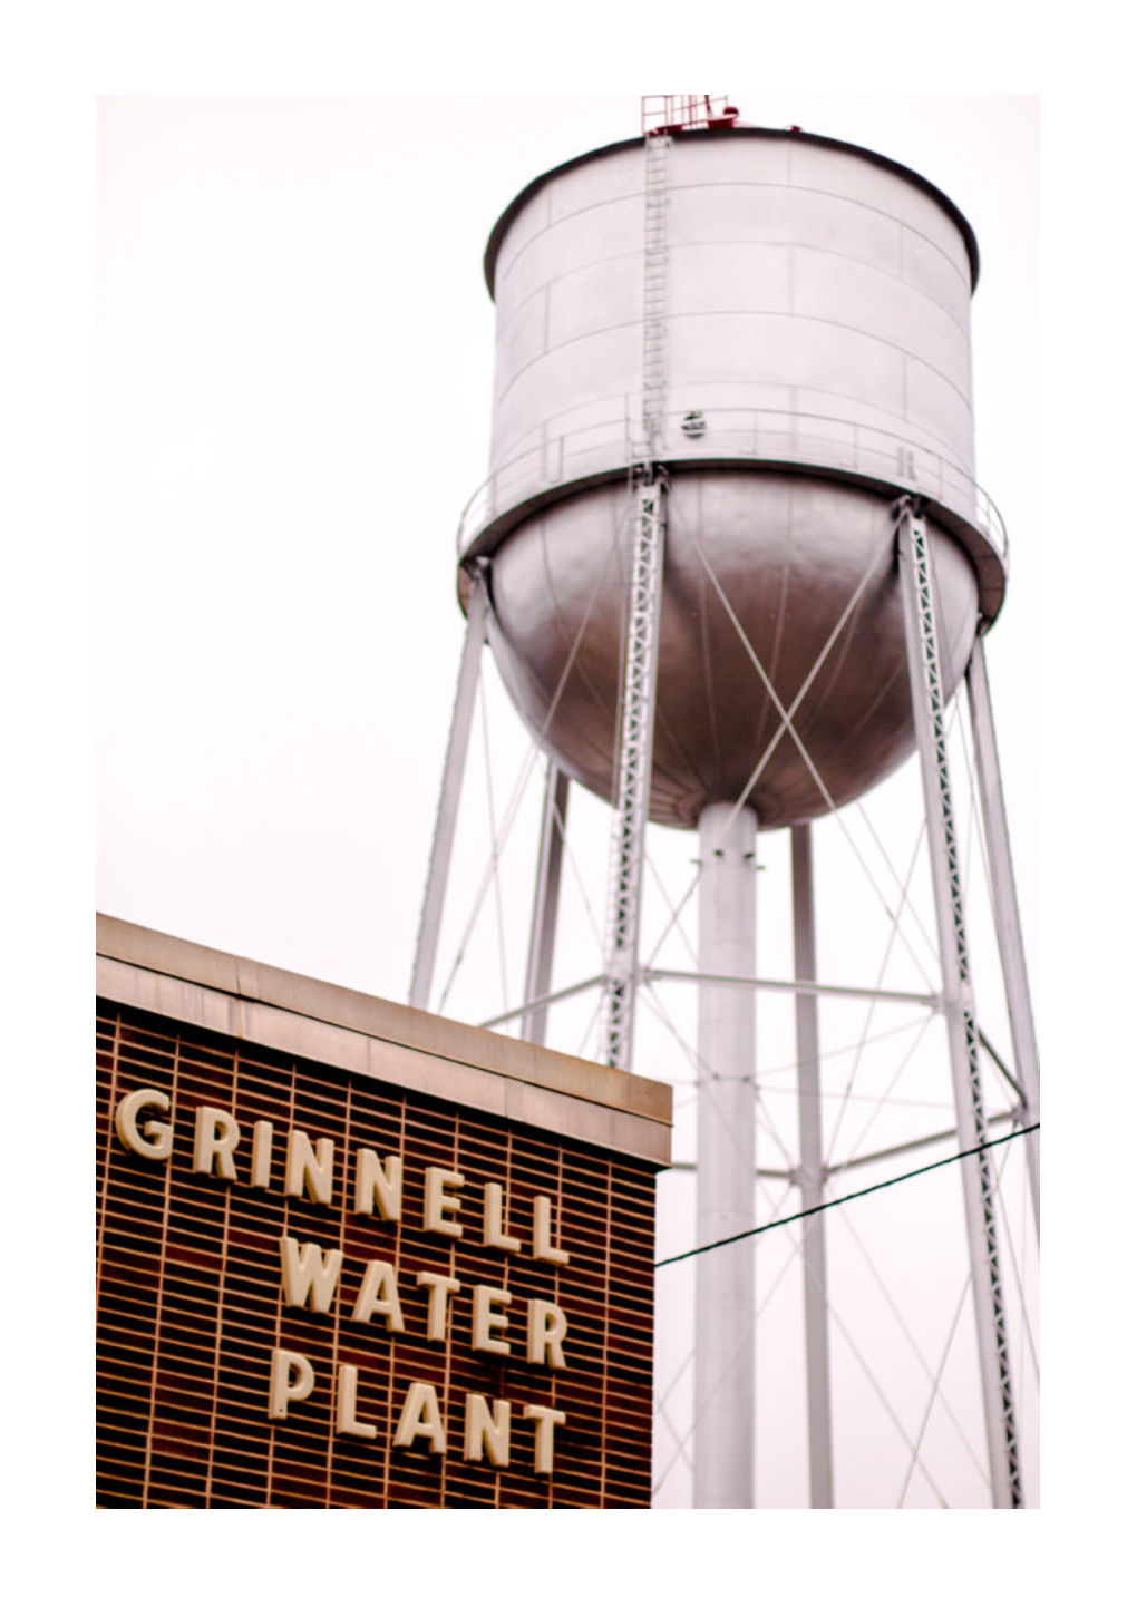
[[(793, 840), (802, 1208), (822, 1204), (809, 823), (920, 754), (991, 1490), (1021, 1504), (944, 714), (965, 683), (1023, 1094), (1037, 1053), (983, 636), (1005, 535), (976, 485), (975, 235), (899, 164), (725, 103), (536, 178), (494, 227), (491, 474), (412, 1003), (426, 1004), (482, 643), (548, 755), (526, 1032), (540, 1038), (574, 781), (613, 808), (598, 1057), (627, 1067), (648, 821), (698, 832), (695, 1242), (754, 1223), (756, 844)], [(1037, 1130), (1029, 1176), (1037, 1223)], [(811, 1495), (831, 1504), (825, 1233), (806, 1233)], [(695, 1501), (753, 1504), (753, 1241), (698, 1265)]]

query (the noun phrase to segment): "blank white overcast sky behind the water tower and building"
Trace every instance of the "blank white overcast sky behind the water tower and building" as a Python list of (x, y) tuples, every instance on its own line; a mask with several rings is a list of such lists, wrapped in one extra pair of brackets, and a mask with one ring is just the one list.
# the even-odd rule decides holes
[[(913, 167), (957, 202), (978, 235), (978, 479), (1012, 543), (1008, 601), (987, 662), (1034, 964), (1037, 104), (1013, 96), (780, 96), (737, 85), (732, 100), (748, 122), (799, 124)], [(100, 910), (405, 998), (462, 648), (454, 534), (487, 460), (494, 315), (481, 270), (484, 241), (532, 177), (635, 133), (635, 96), (101, 103)], [(465, 919), (457, 905), (481, 876), (489, 808), (500, 820), (527, 752), (492, 678), (486, 707), (474, 749), (486, 742), (499, 773), (491, 775), (491, 794), (476, 754), (452, 947)], [(878, 800), (883, 818), (902, 816), (912, 783), (909, 767), (899, 802)], [(585, 831), (582, 877), (603, 908), (603, 831), (587, 800), (573, 808)], [(907, 853), (915, 839), (907, 826), (904, 832)], [(675, 832), (663, 837), (663, 873), (682, 881), (692, 847)], [(759, 932), (769, 930), (759, 937), (759, 964), (786, 974), (785, 890), (774, 890), (785, 844), (764, 839), (764, 850), (772, 890), (759, 900)], [(502, 998), (516, 1003), (531, 866), (529, 820), (518, 824), (503, 884), (511, 929), (499, 942), (487, 900), (491, 924), (478, 929), (481, 969), (473, 967), (465, 995), (455, 983), (449, 1012), (476, 1020), (503, 1008)], [(867, 918), (848, 916), (860, 908), (856, 871), (835, 885), (851, 890), (836, 900), (838, 935), (823, 948), (823, 963), (833, 980), (860, 980), (857, 967), (872, 964), (859, 951)], [(590, 942), (585, 914), (577, 908), (581, 967)], [(983, 935), (976, 942), (983, 950)], [(563, 982), (589, 974), (573, 971), (577, 948), (566, 940)], [(679, 1019), (688, 1006), (669, 1008)], [(770, 1127), (759, 1135), (759, 1163), (777, 1165), (778, 1144), (794, 1143), (791, 1085), (782, 1069), (791, 1022), (774, 1006), (759, 1020), (769, 1024), (759, 1025), (767, 1077), (759, 1120), (769, 1117)], [(587, 1020), (584, 1028), (574, 1020), (574, 1041), (558, 1046), (592, 1054)], [(833, 1017), (830, 1041), (849, 1033), (856, 1041), (862, 1030), (864, 1022)], [(645, 1024), (642, 1054), (650, 1064), (637, 1062), (677, 1083), (679, 1159), (692, 1154), (683, 1086), (690, 1065), (675, 1041), (685, 1032), (682, 1020), (679, 1033), (664, 1032), (658, 1019)], [(865, 1133), (862, 1147), (950, 1125), (946, 1070), (936, 1085), (931, 1062), (922, 1069), (923, 1054), (902, 1070), (894, 1109)], [(865, 1110), (875, 1110), (868, 1101), (889, 1085), (896, 1064), (881, 1061), (876, 1082), (862, 1083)], [(833, 1067), (835, 1096), (848, 1069)], [(992, 1099), (999, 1093), (992, 1090)], [(857, 1109), (846, 1106), (852, 1115)], [(860, 1136), (852, 1115), (841, 1139), (849, 1147)], [(897, 1358), (910, 1350), (888, 1303), (865, 1292), (872, 1268), (899, 1244), (891, 1276), (909, 1286), (918, 1311), (931, 1313), (920, 1334), (925, 1356), (938, 1356), (947, 1308), (960, 1294), (952, 1282), (941, 1310), (931, 1292), (925, 1298), (912, 1287), (918, 1265), (939, 1265), (923, 1253), (920, 1234), (930, 1223), (942, 1221), (936, 1233), (947, 1281), (963, 1266), (958, 1181), (950, 1172), (938, 1176), (950, 1181), (934, 1192), (928, 1184), (925, 1204), (912, 1205), (918, 1226), (901, 1233), (896, 1216), (883, 1212), (873, 1226), (865, 1212), (856, 1229), (864, 1242), (843, 1247), (849, 1271), (841, 1271), (844, 1261), (835, 1266), (835, 1308), (856, 1327), (844, 1360), (835, 1361), (851, 1401), (839, 1451), (846, 1467), (860, 1458), (851, 1482), (838, 1477), (839, 1498), (851, 1504), (889, 1504), (905, 1458), (896, 1437), (875, 1464), (865, 1454), (875, 1438), (893, 1433), (881, 1427), (872, 1379), (902, 1371)], [(1018, 1231), (1016, 1162), (1012, 1183)], [(667, 1189), (661, 1253), (687, 1249), (693, 1233), (690, 1180), (672, 1178)], [(774, 1204), (762, 1199), (759, 1215)], [(767, 1380), (774, 1358), (785, 1355), (785, 1366), (796, 1366), (799, 1274), (791, 1250), (786, 1255), (786, 1265), (762, 1261), (772, 1313), (785, 1306), (777, 1337), (766, 1348), (759, 1337), (759, 1376)], [(1024, 1263), (1021, 1271), (1029, 1286), (1032, 1268)], [(661, 1376), (680, 1376), (672, 1401), (679, 1419), (690, 1289), (690, 1279), (675, 1274), (659, 1290), (661, 1313), (671, 1313)], [(1032, 1290), (1028, 1303), (1034, 1321)], [(905, 1321), (920, 1318), (907, 1311)], [(963, 1416), (975, 1411), (968, 1342), (957, 1340), (949, 1369), (958, 1369)], [(864, 1368), (857, 1356), (867, 1358), (873, 1343)], [(1029, 1369), (1029, 1339), (1018, 1329), (1015, 1360)], [(897, 1385), (905, 1421), (918, 1421), (925, 1384), (917, 1368)], [(786, 1448), (782, 1461), (759, 1454), (759, 1499), (794, 1504), (804, 1480), (799, 1380), (767, 1384), (759, 1395), (766, 1443)], [(778, 1396), (790, 1403), (785, 1421)], [(1032, 1450), (1031, 1388), (1023, 1411)], [(975, 1469), (950, 1425), (938, 1424), (938, 1433), (942, 1490), (952, 1504), (968, 1504), (979, 1488)], [(671, 1443), (661, 1430), (658, 1445)], [(917, 1485), (913, 1499), (936, 1504), (933, 1486), (920, 1478)], [(682, 1504), (685, 1488), (680, 1453), (664, 1499)]]

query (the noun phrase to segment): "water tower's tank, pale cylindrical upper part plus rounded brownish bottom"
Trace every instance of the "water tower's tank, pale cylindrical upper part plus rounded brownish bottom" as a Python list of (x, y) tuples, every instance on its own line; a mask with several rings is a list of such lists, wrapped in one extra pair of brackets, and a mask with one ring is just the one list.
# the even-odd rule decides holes
[[(836, 140), (703, 129), (674, 135), (666, 161), (655, 821), (693, 826), (733, 802), (778, 728), (741, 636), (790, 707), (860, 587), (794, 712), (823, 791), (782, 738), (748, 797), (769, 829), (849, 802), (912, 750), (897, 495), (925, 498), (949, 689), (1002, 603), (1002, 527), (973, 480), (978, 251), (933, 185)], [(611, 797), (643, 141), (534, 180), (491, 235), (486, 278), (491, 476), (463, 519), (460, 590), (491, 558), (489, 635), (511, 697), (561, 770)]]

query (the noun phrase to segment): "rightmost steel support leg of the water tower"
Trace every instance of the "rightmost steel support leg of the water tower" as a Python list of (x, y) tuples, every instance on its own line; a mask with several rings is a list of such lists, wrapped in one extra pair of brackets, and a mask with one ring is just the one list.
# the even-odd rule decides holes
[[(1007, 810), (1004, 807), (1004, 787), (999, 775), (999, 752), (995, 749), (995, 725), (991, 715), (991, 689), (987, 686), (983, 636), (976, 638), (971, 649), (971, 660), (967, 667), (967, 691), (971, 707), (971, 731), (975, 734), (979, 805), (983, 808), (983, 826), (987, 834), (991, 892), (999, 958), (1004, 967), (1004, 987), (1007, 988), (1010, 1037), (1018, 1083), (1024, 1094), (1023, 1125), (1032, 1127), (1039, 1120), (1039, 1045), (1034, 1037), (1031, 990), (1026, 982), (1023, 927), (1018, 918), (1015, 874), (1010, 861), (1010, 832), (1007, 831)], [(1031, 1200), (1034, 1204), (1034, 1231), (1039, 1233), (1039, 1135), (1028, 1133), (1024, 1144), (1026, 1167), (1031, 1180)]]

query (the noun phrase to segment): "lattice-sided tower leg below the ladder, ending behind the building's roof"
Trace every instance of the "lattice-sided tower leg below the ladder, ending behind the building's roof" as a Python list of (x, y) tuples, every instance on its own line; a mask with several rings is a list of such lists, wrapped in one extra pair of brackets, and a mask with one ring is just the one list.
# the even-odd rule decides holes
[(659, 603), (667, 525), (667, 493), (655, 474), (648, 472), (637, 484), (634, 495), (635, 527), (608, 873), (606, 980), (597, 1054), (597, 1059), (622, 1070), (632, 1064), (643, 839), (651, 794)]

